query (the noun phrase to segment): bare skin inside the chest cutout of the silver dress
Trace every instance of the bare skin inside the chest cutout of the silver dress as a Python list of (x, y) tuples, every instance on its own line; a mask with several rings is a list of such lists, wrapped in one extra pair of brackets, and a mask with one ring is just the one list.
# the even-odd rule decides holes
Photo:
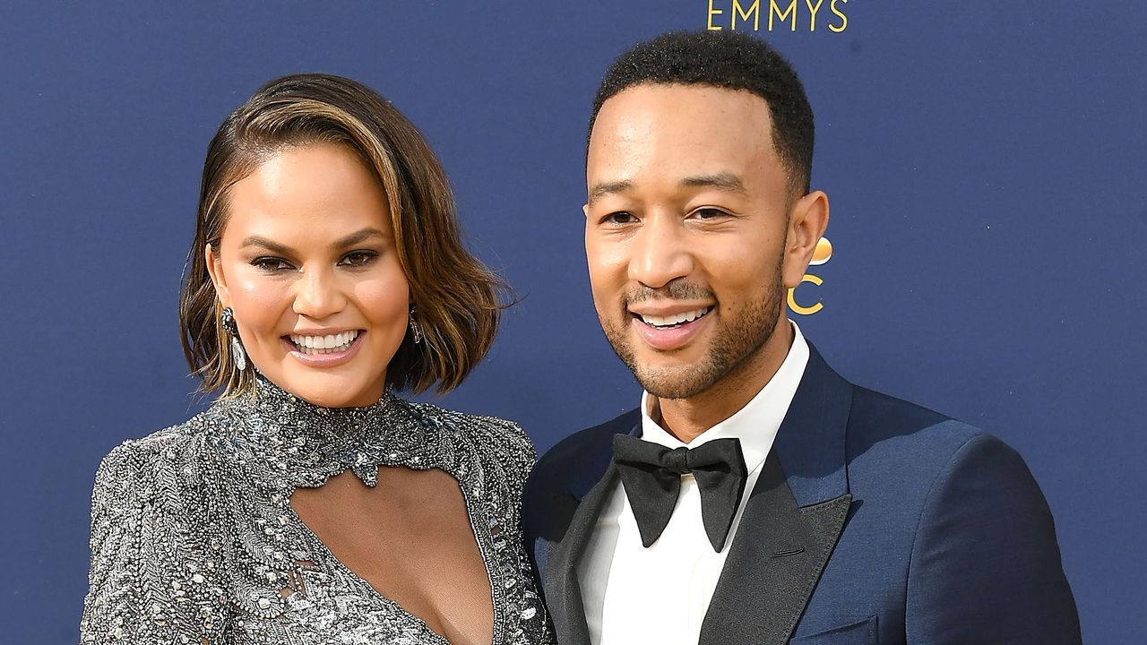
[[(376, 481), (375, 487), (364, 485), (351, 472), (344, 472), (322, 487), (297, 489), (290, 507), (334, 566), (359, 580), (380, 600), (420, 622), (444, 643), (494, 643), (499, 616), (494, 577), (485, 557), (487, 546), (483, 546), (471, 502), (458, 480), (440, 468), (383, 466)], [(398, 552), (404, 547), (409, 551)], [(436, 559), (436, 552), (453, 557), (452, 561)], [(301, 569), (305, 576), (307, 568)], [(467, 590), (469, 596), (450, 598), (453, 590)], [(447, 598), (442, 599), (443, 593)], [(466, 606), (479, 608), (461, 616), (448, 613), (451, 607)]]

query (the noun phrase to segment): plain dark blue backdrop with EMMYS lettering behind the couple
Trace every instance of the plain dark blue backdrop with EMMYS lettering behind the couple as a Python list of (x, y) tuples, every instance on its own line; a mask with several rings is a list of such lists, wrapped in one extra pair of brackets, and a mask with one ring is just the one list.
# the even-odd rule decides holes
[(1147, 2), (189, 5), (0, 8), (0, 642), (76, 642), (99, 459), (203, 404), (180, 271), (208, 140), (255, 87), (346, 75), (423, 130), (524, 296), (445, 404), (544, 450), (639, 391), (584, 266), (596, 83), (638, 39), (754, 20), (804, 77), (832, 200), (805, 334), (851, 380), (1016, 446), (1085, 640), (1144, 642)]

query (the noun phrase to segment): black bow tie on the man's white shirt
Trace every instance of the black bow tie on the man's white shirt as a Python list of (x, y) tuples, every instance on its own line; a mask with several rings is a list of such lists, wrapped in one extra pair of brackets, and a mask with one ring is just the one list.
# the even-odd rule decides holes
[(614, 463), (638, 521), (641, 544), (648, 547), (661, 537), (673, 515), (681, 475), (692, 474), (701, 491), (701, 520), (709, 542), (717, 552), (725, 547), (748, 475), (740, 441), (719, 438), (694, 449), (670, 449), (615, 435)]

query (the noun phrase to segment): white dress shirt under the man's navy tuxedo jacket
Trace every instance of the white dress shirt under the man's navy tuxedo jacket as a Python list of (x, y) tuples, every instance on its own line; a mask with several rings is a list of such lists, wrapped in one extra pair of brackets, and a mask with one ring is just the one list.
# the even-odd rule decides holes
[(681, 476), (673, 515), (648, 549), (641, 546), (625, 489), (615, 487), (577, 565), (593, 645), (696, 645), (749, 491), (760, 475), (809, 363), (809, 344), (796, 324), (793, 332), (793, 347), (764, 389), (689, 444), (653, 420), (649, 412), (656, 402), (648, 393), (642, 394), (641, 438), (666, 448), (696, 448), (717, 438), (736, 437), (749, 476), (725, 549), (719, 553), (713, 551), (701, 521), (701, 494), (693, 475)]

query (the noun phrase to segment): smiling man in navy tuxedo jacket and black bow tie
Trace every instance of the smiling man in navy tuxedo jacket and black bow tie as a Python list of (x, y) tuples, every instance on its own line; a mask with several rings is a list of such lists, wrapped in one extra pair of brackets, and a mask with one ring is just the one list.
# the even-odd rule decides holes
[(1078, 643), (1047, 504), (975, 428), (853, 386), (785, 316), (828, 224), (788, 63), (669, 33), (594, 101), (586, 257), (641, 406), (538, 464), (564, 644)]

